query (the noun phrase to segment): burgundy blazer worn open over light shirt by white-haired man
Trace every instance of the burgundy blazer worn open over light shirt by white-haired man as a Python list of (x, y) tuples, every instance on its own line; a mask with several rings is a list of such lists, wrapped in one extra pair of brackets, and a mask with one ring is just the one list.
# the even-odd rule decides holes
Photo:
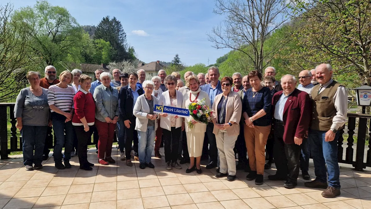
[[(276, 103), (280, 99), (283, 91), (278, 91), (272, 98), (272, 116), (274, 119), (274, 111)], [(311, 99), (305, 91), (295, 89), (286, 101), (283, 109), (283, 141), (286, 144), (294, 143), (294, 136), (304, 140), (308, 133), (309, 124), (312, 118)]]

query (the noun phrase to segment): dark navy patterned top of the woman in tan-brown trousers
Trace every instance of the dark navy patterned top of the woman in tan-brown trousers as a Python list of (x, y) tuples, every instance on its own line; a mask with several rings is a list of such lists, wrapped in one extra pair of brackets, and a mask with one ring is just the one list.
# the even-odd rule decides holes
[(245, 96), (242, 100), (242, 112), (246, 112), (249, 117), (254, 116), (257, 112), (263, 109), (266, 115), (255, 119), (255, 126), (269, 126), (272, 123), (272, 95), (268, 87), (263, 87), (256, 92), (255, 97), (253, 97), (252, 89), (247, 89)]

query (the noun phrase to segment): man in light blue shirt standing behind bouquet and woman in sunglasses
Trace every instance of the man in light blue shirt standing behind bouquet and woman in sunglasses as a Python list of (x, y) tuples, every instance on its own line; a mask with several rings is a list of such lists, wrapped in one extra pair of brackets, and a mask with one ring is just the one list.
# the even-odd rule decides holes
[[(211, 66), (209, 70), (207, 71), (207, 73), (209, 73), (209, 79), (211, 83), (201, 86), (201, 90), (206, 91), (206, 93), (209, 94), (210, 103), (211, 103), (211, 106), (213, 106), (215, 96), (222, 93), (221, 84), (219, 81), (219, 76), (220, 76), (219, 69), (216, 66)], [(206, 169), (216, 167), (217, 162), (218, 162), (218, 149), (216, 147), (216, 138), (215, 138), (215, 135), (213, 134), (213, 129), (214, 129), (214, 123), (209, 122), (209, 124), (206, 127), (206, 134), (207, 134), (207, 139), (209, 141), (210, 163), (206, 165)]]

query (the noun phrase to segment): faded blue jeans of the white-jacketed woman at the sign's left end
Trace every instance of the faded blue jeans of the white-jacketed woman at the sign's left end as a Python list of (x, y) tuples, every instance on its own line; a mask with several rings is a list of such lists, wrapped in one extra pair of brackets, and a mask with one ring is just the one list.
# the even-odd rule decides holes
[(138, 131), (139, 163), (151, 163), (155, 135), (155, 126), (148, 126), (146, 132)]

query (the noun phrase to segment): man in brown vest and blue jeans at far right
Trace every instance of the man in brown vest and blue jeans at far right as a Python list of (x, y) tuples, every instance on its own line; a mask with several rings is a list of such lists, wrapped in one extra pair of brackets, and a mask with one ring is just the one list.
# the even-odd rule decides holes
[(327, 198), (340, 195), (338, 130), (347, 121), (348, 110), (347, 90), (332, 80), (332, 73), (329, 64), (316, 67), (319, 85), (310, 93), (313, 115), (308, 136), (316, 179), (305, 183), (306, 187), (326, 189), (322, 196)]

